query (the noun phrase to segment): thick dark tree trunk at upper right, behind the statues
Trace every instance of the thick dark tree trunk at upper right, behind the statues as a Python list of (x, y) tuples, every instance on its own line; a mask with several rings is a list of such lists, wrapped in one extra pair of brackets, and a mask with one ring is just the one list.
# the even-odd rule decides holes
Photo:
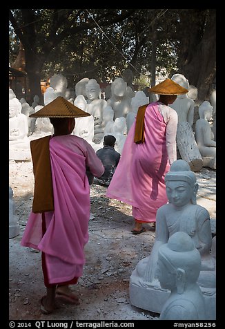
[[(215, 10), (194, 10), (190, 16), (181, 16), (184, 34), (180, 44), (177, 66), (190, 84), (198, 89), (198, 99), (207, 100), (215, 81)], [(184, 28), (184, 29), (183, 29)]]

